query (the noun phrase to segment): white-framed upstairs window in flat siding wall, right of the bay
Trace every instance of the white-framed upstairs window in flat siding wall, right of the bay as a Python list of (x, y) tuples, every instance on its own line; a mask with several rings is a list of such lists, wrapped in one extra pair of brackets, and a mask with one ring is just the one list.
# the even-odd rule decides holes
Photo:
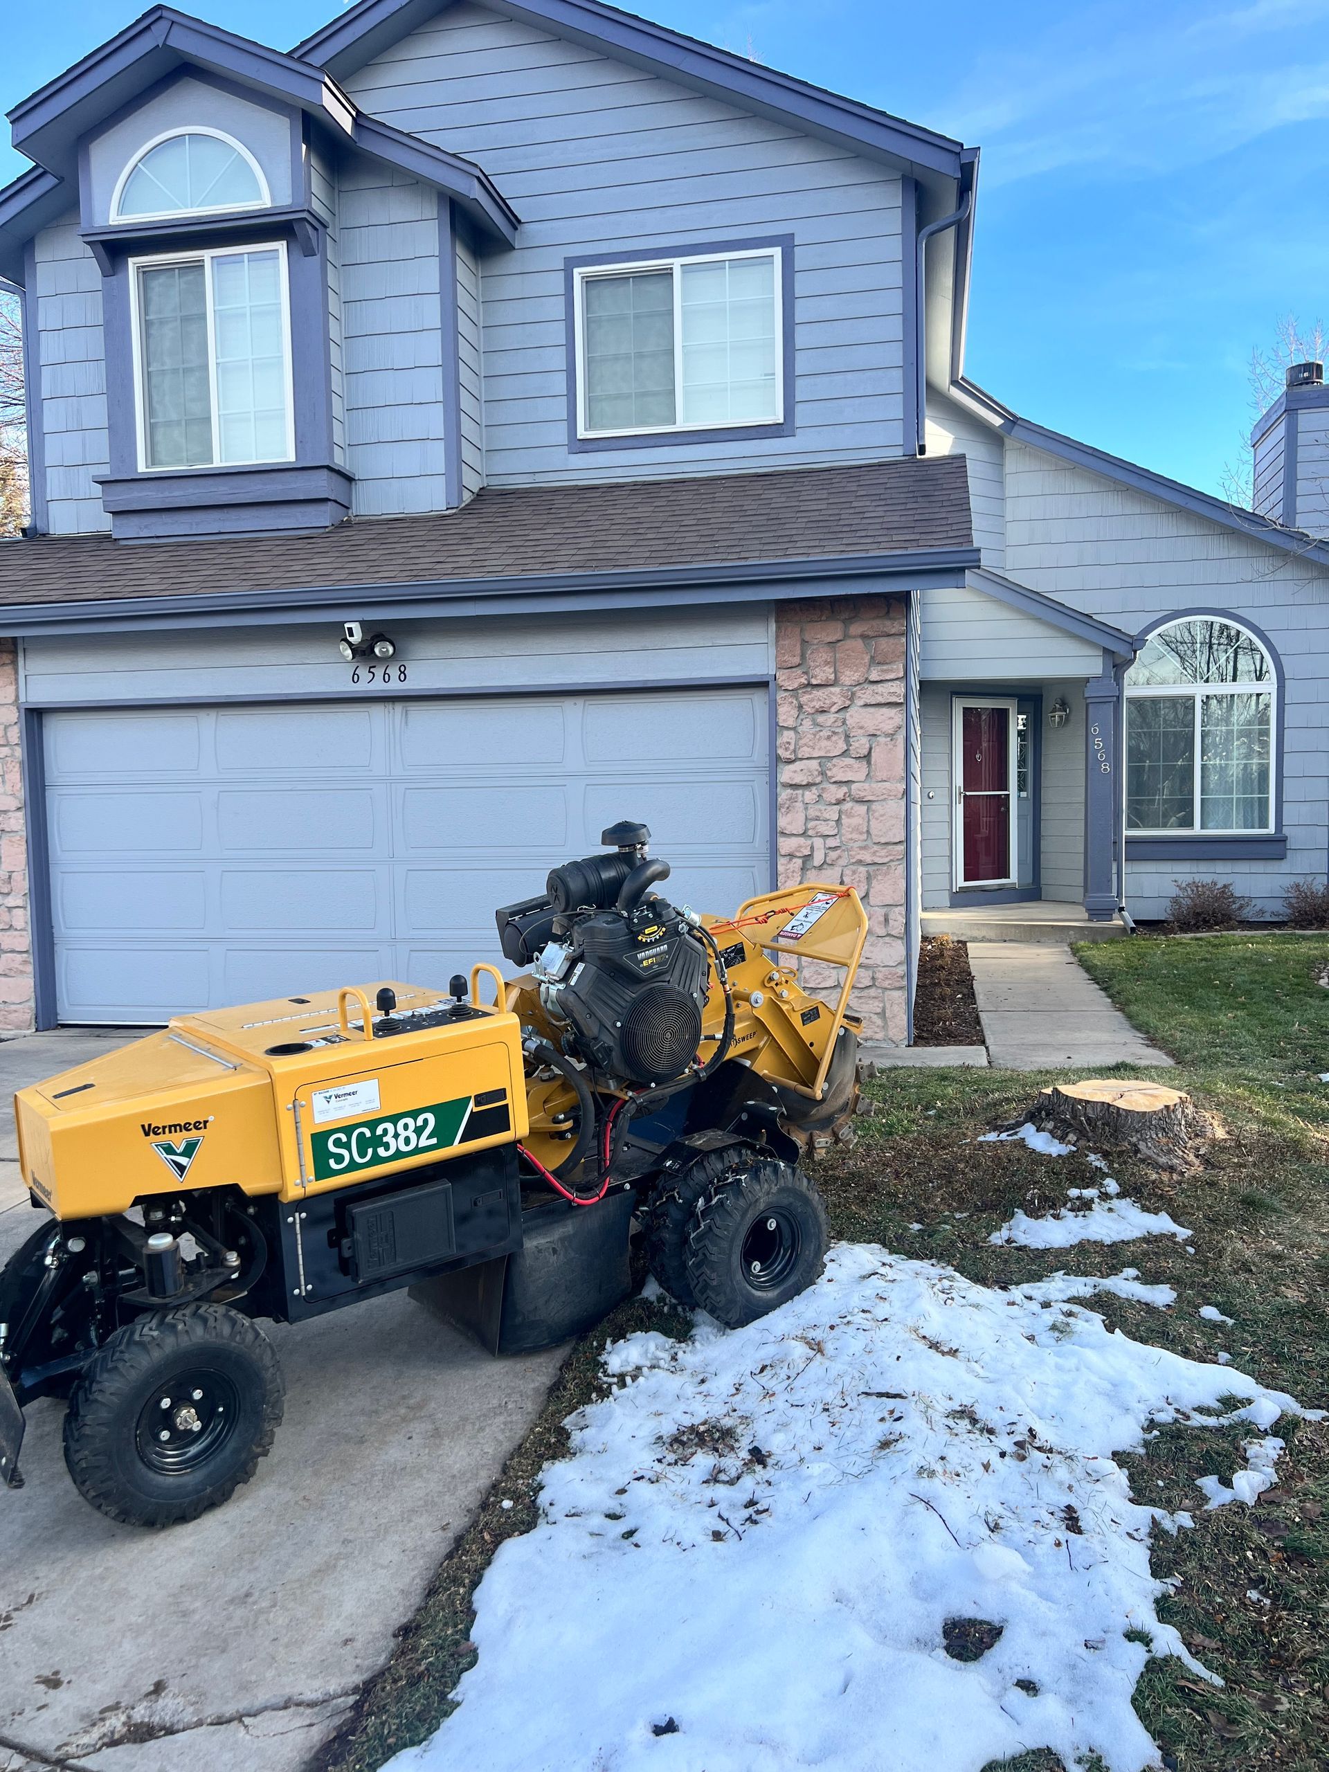
[(783, 422), (781, 252), (576, 273), (578, 436)]

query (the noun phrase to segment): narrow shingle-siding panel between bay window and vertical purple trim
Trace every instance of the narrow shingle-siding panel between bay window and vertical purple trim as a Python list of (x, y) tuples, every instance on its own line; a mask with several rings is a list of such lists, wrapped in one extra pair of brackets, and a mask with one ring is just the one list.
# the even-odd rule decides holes
[(361, 517), (443, 510), (438, 193), (386, 167), (340, 172), (346, 466)]

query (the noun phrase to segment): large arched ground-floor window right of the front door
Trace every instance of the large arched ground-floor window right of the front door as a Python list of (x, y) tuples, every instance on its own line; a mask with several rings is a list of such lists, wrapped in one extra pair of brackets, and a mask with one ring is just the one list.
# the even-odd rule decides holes
[(1129, 831), (1272, 831), (1274, 661), (1239, 622), (1155, 629), (1125, 679)]

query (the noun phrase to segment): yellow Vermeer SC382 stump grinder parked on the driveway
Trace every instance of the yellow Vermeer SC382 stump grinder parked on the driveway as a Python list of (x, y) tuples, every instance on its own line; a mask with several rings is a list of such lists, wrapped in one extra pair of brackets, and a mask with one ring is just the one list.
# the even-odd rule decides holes
[(257, 1318), (409, 1286), (494, 1354), (548, 1347), (627, 1295), (633, 1221), (659, 1283), (730, 1327), (810, 1285), (799, 1157), (854, 1108), (863, 905), (803, 884), (675, 909), (649, 838), (617, 824), (496, 913), (510, 982), (179, 1015), (21, 1090), (44, 1216), (0, 1274), (0, 1478), (23, 1407), (66, 1398), (87, 1501), (195, 1519), (282, 1418)]

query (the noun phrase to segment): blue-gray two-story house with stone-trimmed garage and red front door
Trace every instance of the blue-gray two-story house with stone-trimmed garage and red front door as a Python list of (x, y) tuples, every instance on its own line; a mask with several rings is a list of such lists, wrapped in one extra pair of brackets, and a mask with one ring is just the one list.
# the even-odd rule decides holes
[(879, 1040), (927, 907), (1324, 872), (1324, 390), (1265, 516), (1006, 411), (976, 149), (599, 0), (152, 7), (11, 122), (4, 1024), (443, 983), (624, 815), (856, 884)]

